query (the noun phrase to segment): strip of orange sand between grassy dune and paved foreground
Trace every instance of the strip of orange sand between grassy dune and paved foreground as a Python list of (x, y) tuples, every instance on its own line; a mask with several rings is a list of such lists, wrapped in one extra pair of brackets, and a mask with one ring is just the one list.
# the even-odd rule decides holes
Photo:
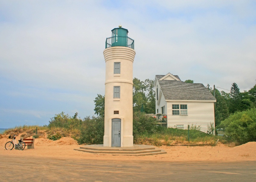
[[(19, 137), (17, 138), (19, 139)], [(230, 147), (218, 143), (217, 146), (160, 146), (167, 154), (147, 155), (147, 156), (121, 156), (121, 155), (98, 155), (80, 151), (73, 138), (63, 137), (59, 140), (52, 141), (47, 138), (36, 138), (35, 149), (6, 150), (4, 145), (8, 136), (0, 139), (0, 155), (22, 157), (24, 154), (31, 157), (46, 157), (56, 159), (99, 159), (99, 160), (120, 160), (120, 161), (216, 161), (216, 162), (234, 162), (234, 161), (256, 161), (256, 142), (249, 142), (241, 146)]]

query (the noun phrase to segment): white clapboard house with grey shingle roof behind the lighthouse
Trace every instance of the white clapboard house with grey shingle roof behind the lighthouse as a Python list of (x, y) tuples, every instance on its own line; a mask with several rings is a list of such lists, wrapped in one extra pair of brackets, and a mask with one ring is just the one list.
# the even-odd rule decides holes
[(216, 99), (201, 83), (182, 82), (177, 75), (156, 75), (156, 115), (159, 124), (168, 128), (188, 129), (200, 126), (211, 131)]

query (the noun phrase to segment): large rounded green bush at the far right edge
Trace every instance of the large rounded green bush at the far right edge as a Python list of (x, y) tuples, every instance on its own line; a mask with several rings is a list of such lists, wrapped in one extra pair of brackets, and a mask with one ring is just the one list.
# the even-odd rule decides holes
[(256, 141), (256, 109), (236, 112), (220, 123), (237, 144)]

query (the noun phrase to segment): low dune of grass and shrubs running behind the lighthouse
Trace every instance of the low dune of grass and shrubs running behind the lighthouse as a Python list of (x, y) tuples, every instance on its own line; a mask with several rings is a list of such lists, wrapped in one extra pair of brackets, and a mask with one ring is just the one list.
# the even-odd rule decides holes
[[(57, 140), (61, 137), (72, 137), (79, 144), (103, 144), (104, 118), (86, 117), (80, 119), (76, 116), (71, 117), (62, 112), (51, 118), (48, 125), (16, 126), (4, 131), (4, 134), (11, 136), (18, 134), (23, 138), (31, 136), (35, 138), (44, 137), (52, 140)], [(154, 146), (197, 143), (214, 146), (217, 139), (220, 139), (222, 143), (228, 142), (228, 138), (208, 135), (198, 131), (199, 128), (191, 128), (188, 141), (188, 130), (157, 126), (153, 117), (135, 112), (133, 114), (133, 143)]]

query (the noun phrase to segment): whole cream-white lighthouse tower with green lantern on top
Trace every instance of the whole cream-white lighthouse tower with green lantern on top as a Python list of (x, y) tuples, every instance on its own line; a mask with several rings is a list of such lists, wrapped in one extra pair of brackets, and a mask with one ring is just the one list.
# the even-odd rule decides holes
[(114, 28), (103, 51), (106, 63), (105, 129), (103, 146), (133, 146), (132, 136), (132, 67), (134, 40), (128, 30)]

